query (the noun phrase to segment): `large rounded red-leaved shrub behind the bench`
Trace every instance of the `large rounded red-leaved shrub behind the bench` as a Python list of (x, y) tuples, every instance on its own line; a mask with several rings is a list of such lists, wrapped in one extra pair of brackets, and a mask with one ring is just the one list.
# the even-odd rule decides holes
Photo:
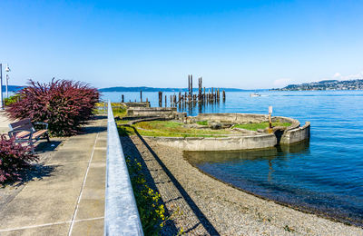
[(50, 133), (57, 136), (78, 133), (99, 101), (98, 91), (80, 82), (53, 79), (49, 84), (32, 80), (29, 84), (17, 93), (20, 100), (10, 104), (7, 112), (11, 118), (48, 123)]

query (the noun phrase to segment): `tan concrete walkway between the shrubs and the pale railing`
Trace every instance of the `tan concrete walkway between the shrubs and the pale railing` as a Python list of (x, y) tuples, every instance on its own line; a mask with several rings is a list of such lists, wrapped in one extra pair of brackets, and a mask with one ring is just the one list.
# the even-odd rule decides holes
[(103, 235), (107, 120), (52, 151), (52, 172), (0, 207), (0, 235)]

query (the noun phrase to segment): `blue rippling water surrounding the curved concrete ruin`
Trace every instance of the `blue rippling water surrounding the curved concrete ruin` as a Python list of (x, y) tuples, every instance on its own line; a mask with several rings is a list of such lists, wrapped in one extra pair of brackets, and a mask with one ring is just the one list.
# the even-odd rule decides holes
[[(363, 225), (363, 91), (227, 93), (226, 103), (188, 110), (268, 113), (311, 122), (309, 143), (263, 151), (185, 152), (202, 172), (244, 191)], [(140, 93), (123, 93), (125, 99)], [(173, 93), (166, 93), (168, 95)], [(157, 93), (143, 93), (157, 105)], [(120, 101), (121, 93), (104, 93)], [(117, 99), (119, 98), (119, 99)]]

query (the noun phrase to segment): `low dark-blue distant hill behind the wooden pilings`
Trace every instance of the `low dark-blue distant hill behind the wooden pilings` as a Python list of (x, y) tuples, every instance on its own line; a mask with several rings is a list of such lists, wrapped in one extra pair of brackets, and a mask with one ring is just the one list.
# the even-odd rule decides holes
[[(205, 88), (207, 92), (211, 88)], [(216, 88), (214, 88), (216, 89)], [(226, 92), (241, 92), (243, 89), (236, 88), (220, 88)], [(187, 88), (153, 88), (153, 87), (110, 87), (99, 89), (100, 92), (188, 92)], [(193, 88), (193, 91), (198, 92), (198, 88)]]

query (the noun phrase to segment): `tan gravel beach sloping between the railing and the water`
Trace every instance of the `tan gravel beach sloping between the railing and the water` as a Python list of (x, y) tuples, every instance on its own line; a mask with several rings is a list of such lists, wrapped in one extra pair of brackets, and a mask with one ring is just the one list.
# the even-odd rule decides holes
[(363, 235), (361, 228), (234, 189), (199, 172), (182, 150), (144, 139), (122, 137), (123, 151), (142, 163), (149, 185), (162, 195), (172, 219), (164, 235)]

